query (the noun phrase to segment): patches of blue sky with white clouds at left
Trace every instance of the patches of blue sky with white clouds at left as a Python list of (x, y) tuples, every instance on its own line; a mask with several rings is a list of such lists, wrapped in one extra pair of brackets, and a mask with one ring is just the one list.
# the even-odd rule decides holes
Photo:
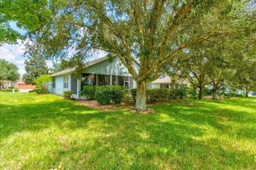
[[(19, 29), (15, 22), (9, 22), (12, 29), (18, 31), (21, 33), (21, 35), (25, 35), (26, 31)], [(10, 45), (10, 44), (4, 44), (0, 46), (0, 59), (5, 59), (10, 63), (13, 63), (18, 66), (19, 73), (22, 76), (26, 73), (25, 71), (25, 60), (27, 57), (23, 57), (23, 53), (25, 52), (25, 46), (22, 44), (21, 40), (18, 40), (18, 44)], [(103, 57), (106, 54), (103, 51), (100, 51), (97, 55), (97, 58)], [(91, 58), (91, 60), (94, 60), (96, 58)], [(52, 61), (47, 61), (47, 66), (52, 66)]]

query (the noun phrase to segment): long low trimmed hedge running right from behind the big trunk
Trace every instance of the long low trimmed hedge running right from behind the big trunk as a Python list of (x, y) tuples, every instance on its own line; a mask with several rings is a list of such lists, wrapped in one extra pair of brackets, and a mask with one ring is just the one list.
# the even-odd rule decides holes
[[(131, 90), (132, 97), (136, 101), (137, 89)], [(171, 99), (187, 97), (187, 89), (147, 89), (146, 103), (157, 103)]]

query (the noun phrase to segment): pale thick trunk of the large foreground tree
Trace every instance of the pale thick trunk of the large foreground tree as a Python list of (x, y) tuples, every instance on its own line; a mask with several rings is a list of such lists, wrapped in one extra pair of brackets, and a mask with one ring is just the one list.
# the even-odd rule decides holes
[(137, 95), (135, 109), (137, 111), (146, 110), (146, 84), (145, 82), (137, 83)]

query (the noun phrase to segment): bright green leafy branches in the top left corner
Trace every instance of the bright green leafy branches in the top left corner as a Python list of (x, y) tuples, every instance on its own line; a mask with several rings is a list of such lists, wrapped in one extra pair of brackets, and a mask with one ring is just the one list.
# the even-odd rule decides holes
[(27, 31), (36, 30), (49, 20), (51, 11), (46, 8), (47, 1), (2, 0), (0, 3), (0, 46), (4, 43), (16, 44), (24, 39), (20, 32), (10, 27), (9, 21), (17, 22), (17, 27)]

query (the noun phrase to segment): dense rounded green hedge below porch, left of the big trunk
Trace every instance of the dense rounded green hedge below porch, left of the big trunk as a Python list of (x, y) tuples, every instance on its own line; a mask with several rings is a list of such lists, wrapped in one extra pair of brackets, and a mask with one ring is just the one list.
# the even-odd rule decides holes
[(95, 92), (95, 99), (100, 105), (120, 104), (124, 96), (124, 88), (121, 86), (99, 86)]

